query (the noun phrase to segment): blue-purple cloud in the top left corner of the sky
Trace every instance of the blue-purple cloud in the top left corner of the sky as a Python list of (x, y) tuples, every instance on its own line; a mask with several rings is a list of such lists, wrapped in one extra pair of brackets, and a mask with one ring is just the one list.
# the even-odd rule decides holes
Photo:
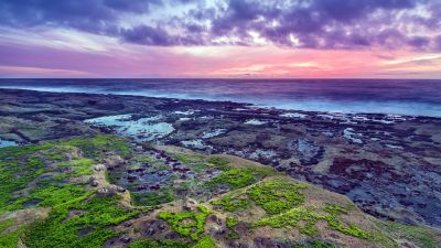
[(18, 28), (46, 25), (94, 33), (115, 32), (121, 12), (148, 12), (161, 0), (1, 0), (0, 23)]

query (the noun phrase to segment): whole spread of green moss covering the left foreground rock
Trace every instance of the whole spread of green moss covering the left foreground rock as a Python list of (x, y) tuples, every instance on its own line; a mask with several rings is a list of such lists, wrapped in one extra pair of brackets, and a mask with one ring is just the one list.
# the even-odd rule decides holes
[[(78, 147), (88, 159), (63, 162), (64, 154)], [(24, 231), (28, 247), (101, 247), (109, 237), (118, 235), (109, 227), (138, 212), (118, 206), (118, 197), (95, 197), (84, 184), (71, 184), (63, 177), (92, 174), (90, 166), (107, 154), (128, 155), (130, 145), (111, 136), (75, 138), (40, 145), (24, 145), (0, 150), (0, 213), (31, 206), (52, 207), (49, 218), (20, 227), (17, 231), (0, 235), (0, 247), (17, 247), (19, 235)], [(60, 168), (72, 166), (63, 176), (40, 179)], [(51, 166), (49, 166), (51, 165)], [(35, 186), (28, 187), (31, 182)], [(20, 192), (21, 191), (21, 192)], [(18, 195), (18, 193), (28, 195)], [(28, 193), (29, 192), (29, 193)], [(71, 211), (79, 215), (69, 216)], [(4, 224), (4, 226), (7, 226)]]

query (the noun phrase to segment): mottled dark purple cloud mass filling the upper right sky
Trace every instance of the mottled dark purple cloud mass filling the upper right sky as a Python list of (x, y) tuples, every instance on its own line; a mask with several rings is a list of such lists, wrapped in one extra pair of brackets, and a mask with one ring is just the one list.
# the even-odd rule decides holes
[(229, 1), (225, 11), (213, 20), (212, 32), (215, 35), (247, 37), (249, 31), (256, 31), (279, 45), (310, 48), (359, 48), (372, 45), (423, 48), (428, 45), (428, 39), (406, 37), (398, 26), (413, 23), (400, 23), (404, 20), (396, 18), (400, 11), (411, 10), (424, 2), (311, 0), (280, 6), (262, 1)]

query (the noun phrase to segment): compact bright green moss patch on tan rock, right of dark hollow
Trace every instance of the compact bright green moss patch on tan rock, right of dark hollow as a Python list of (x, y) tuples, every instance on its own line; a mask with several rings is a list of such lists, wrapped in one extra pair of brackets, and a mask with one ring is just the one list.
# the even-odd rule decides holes
[(303, 203), (302, 188), (305, 185), (270, 181), (249, 188), (247, 195), (269, 215), (275, 215)]

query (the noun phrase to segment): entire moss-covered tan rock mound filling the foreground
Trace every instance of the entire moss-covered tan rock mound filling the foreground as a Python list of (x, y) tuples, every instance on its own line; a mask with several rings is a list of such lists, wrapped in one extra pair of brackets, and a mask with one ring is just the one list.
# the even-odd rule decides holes
[[(343, 195), (232, 155), (98, 134), (2, 148), (0, 162), (0, 247), (438, 247), (441, 241), (440, 230), (377, 219)], [(158, 188), (149, 175), (161, 172), (169, 176)], [(123, 187), (123, 180), (116, 180), (135, 175), (139, 180)], [(139, 190), (139, 182), (149, 188)], [(133, 194), (163, 190), (170, 200), (135, 205)]]

